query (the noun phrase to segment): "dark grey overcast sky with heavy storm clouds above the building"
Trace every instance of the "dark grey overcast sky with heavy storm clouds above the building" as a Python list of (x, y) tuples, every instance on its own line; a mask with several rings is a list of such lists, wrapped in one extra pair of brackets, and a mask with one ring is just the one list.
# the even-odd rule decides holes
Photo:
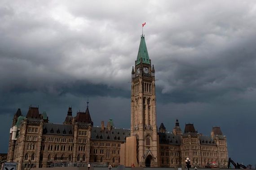
[(68, 106), (94, 125), (130, 128), (131, 71), (144, 26), (157, 87), (157, 123), (210, 135), (256, 164), (256, 1), (1, 0), (0, 153), (18, 108), (62, 123)]

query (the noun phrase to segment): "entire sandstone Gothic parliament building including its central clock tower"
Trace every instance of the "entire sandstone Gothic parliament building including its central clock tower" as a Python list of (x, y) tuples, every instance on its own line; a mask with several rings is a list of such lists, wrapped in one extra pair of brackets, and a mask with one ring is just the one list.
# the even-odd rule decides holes
[(178, 119), (173, 120), (172, 132), (163, 123), (157, 127), (155, 70), (145, 35), (131, 76), (130, 129), (116, 128), (112, 119), (94, 126), (88, 107), (76, 115), (68, 107), (62, 124), (51, 123), (38, 107), (30, 106), (26, 115), (18, 109), (10, 128), (7, 161), (16, 162), (18, 170), (48, 167), (52, 162), (185, 167), (189, 157), (192, 167), (227, 167), (226, 136), (220, 127), (212, 127), (209, 136), (191, 123), (182, 131)]

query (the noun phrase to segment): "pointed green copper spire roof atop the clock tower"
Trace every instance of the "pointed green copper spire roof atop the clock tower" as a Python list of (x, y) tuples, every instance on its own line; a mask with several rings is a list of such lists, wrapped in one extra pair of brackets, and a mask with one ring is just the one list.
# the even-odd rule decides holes
[(139, 52), (137, 55), (136, 65), (141, 63), (141, 58), (142, 58), (142, 63), (150, 64), (149, 54), (148, 54), (148, 50), (145, 42), (145, 36), (143, 35), (141, 35), (141, 43), (140, 43)]

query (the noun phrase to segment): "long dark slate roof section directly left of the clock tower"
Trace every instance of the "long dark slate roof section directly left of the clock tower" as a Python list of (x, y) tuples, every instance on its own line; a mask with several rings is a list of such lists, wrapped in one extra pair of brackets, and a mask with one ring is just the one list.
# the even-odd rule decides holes
[(114, 140), (126, 141), (126, 137), (131, 136), (131, 131), (128, 129), (112, 128), (108, 131), (107, 128), (102, 131), (101, 127), (93, 127), (91, 133), (91, 140)]

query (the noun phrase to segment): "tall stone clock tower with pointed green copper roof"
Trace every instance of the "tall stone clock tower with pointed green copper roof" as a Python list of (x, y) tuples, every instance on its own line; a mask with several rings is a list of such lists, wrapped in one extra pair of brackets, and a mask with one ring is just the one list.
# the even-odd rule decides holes
[(131, 93), (131, 136), (137, 138), (138, 166), (158, 167), (154, 65), (151, 66), (145, 35), (141, 35), (137, 60), (132, 67)]

